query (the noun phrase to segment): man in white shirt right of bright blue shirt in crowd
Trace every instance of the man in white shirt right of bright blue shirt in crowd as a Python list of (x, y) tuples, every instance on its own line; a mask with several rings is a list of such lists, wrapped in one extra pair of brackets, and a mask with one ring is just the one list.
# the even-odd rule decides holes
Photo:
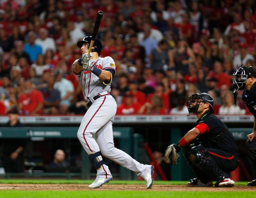
[(48, 37), (48, 30), (45, 28), (39, 30), (39, 38), (35, 40), (35, 43), (42, 47), (43, 54), (45, 54), (47, 49), (56, 51), (55, 41)]

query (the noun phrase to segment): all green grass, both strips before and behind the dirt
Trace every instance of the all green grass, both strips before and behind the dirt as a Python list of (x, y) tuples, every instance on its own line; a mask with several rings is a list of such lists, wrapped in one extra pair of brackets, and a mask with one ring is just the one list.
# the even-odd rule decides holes
[[(154, 185), (185, 185), (188, 181), (154, 181)], [(39, 179), (0, 179), (2, 184), (90, 184), (92, 180), (39, 180)], [(145, 185), (145, 181), (137, 180), (113, 180), (109, 184), (134, 184)], [(247, 182), (236, 182), (236, 185), (246, 186)], [(154, 187), (154, 186), (153, 186)], [(113, 191), (99, 190), (0, 190), (0, 198), (188, 198), (188, 197), (232, 197), (254, 198), (256, 188), (249, 188), (247, 192), (197, 192), (197, 191)]]

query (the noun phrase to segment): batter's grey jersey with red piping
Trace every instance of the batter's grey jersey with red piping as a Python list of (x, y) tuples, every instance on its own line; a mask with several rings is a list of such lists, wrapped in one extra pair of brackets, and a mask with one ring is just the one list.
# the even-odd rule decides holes
[[(77, 60), (75, 60), (75, 62), (73, 63), (72, 70)], [(97, 67), (99, 69), (106, 70), (111, 68), (116, 71), (115, 62), (111, 57), (104, 57), (104, 58), (98, 57), (96, 60), (90, 59), (89, 61), (94, 67)], [(84, 95), (84, 100), (86, 102), (88, 102), (91, 98), (93, 98), (95, 95), (101, 92), (110, 91), (111, 82), (109, 84), (105, 82), (104, 84), (103, 80), (101, 80), (98, 76), (93, 74), (91, 71), (88, 71), (88, 72), (81, 71), (76, 75), (78, 77), (79, 84)]]

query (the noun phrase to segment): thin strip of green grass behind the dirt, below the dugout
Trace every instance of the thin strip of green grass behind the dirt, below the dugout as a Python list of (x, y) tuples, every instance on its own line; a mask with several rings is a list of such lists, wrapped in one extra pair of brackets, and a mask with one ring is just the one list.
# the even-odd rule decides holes
[[(91, 184), (93, 180), (62, 180), (62, 179), (0, 179), (0, 184)], [(185, 185), (188, 181), (154, 181), (154, 185)], [(145, 181), (139, 180), (112, 180), (111, 184), (144, 185)], [(247, 186), (245, 181), (236, 181), (236, 185)]]

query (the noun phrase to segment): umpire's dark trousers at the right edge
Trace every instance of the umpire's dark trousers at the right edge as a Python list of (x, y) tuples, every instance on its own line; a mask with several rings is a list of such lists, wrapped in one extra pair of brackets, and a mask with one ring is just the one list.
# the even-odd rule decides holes
[(252, 141), (247, 140), (245, 144), (248, 164), (250, 166), (250, 173), (252, 180), (256, 179), (256, 138)]

